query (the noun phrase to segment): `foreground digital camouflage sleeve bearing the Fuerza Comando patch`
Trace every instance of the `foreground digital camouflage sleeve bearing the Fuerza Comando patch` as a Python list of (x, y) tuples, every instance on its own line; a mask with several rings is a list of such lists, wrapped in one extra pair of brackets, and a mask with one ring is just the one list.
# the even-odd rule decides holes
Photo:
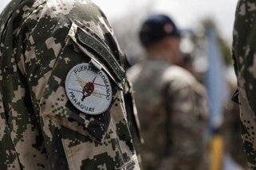
[[(14, 53), (21, 77), (19, 84), (24, 86), (23, 95), (30, 103), (20, 100), (19, 104), (29, 110), (26, 114), (33, 114), (32, 121), (37, 126), (31, 129), (37, 129), (34, 131), (38, 133), (33, 145), (26, 145), (23, 150), (14, 147), (24, 163), (23, 168), (30, 169), (33, 158), (22, 152), (42, 145), (41, 153), (48, 160), (37, 163), (41, 168), (49, 164), (51, 169), (140, 169), (128, 129), (120, 52), (102, 11), (90, 1), (38, 0), (22, 15), (22, 21), (14, 30), (17, 40)], [(113, 63), (116, 68), (112, 67)], [(75, 95), (74, 99), (68, 99), (65, 87), (70, 82), (65, 80), (78, 64), (88, 66), (81, 69), (100, 71), (99, 75), (104, 72), (101, 78), (109, 79), (104, 81), (104, 86), (111, 88), (112, 98), (110, 106), (101, 114), (85, 114), (83, 110), (94, 108), (82, 105)], [(77, 78), (71, 83), (81, 82)], [(81, 85), (74, 90), (82, 89)], [(95, 103), (102, 96), (106, 99), (110, 96), (99, 94)], [(17, 108), (15, 111), (22, 114)]]

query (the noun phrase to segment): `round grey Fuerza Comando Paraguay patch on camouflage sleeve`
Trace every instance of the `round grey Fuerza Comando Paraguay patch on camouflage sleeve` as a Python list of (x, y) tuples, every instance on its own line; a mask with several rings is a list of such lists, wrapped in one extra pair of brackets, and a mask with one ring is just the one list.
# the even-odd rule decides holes
[(65, 79), (69, 101), (85, 114), (102, 114), (112, 101), (112, 87), (108, 75), (92, 64), (78, 64)]

